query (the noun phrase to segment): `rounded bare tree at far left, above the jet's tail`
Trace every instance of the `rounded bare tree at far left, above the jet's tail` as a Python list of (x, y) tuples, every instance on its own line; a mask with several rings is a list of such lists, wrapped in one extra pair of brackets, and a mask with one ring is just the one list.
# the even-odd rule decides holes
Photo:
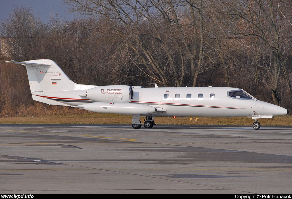
[(9, 54), (15, 59), (26, 60), (38, 57), (46, 28), (32, 8), (14, 6), (9, 17), (1, 22), (0, 34), (6, 37)]

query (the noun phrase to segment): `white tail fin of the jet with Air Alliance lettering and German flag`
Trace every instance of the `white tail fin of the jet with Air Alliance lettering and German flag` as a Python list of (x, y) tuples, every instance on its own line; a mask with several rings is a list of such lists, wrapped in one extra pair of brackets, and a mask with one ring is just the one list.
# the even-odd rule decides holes
[(79, 87), (81, 86), (80, 84), (71, 81), (58, 64), (50, 59), (7, 62), (26, 66), (31, 92), (79, 90)]

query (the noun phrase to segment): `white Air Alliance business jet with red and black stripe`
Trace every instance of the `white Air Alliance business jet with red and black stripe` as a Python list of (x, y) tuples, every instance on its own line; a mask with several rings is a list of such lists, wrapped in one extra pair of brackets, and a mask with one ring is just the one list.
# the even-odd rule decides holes
[(239, 88), (141, 86), (92, 86), (72, 82), (52, 60), (7, 61), (26, 66), (32, 99), (46, 104), (72, 106), (98, 113), (132, 115), (132, 127), (152, 128), (155, 117), (248, 117), (286, 115), (287, 109), (257, 100)]

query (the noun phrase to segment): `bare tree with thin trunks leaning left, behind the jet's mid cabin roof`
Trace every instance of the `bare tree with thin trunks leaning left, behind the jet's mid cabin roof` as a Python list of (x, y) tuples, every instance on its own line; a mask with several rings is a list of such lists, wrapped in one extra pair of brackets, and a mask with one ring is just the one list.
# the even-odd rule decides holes
[[(157, 60), (145, 41), (145, 34), (141, 33), (142, 24), (140, 15), (136, 15), (139, 6), (134, 1), (78, 1), (68, 0), (67, 4), (71, 6), (71, 11), (79, 12), (81, 15), (98, 15), (104, 17), (107, 22), (124, 38), (128, 47), (130, 47), (140, 58), (138, 64), (143, 64), (147, 68), (146, 75), (159, 81), (162, 85), (168, 85), (164, 74), (164, 68), (159, 65)], [(134, 10), (133, 10), (134, 8)], [(139, 7), (140, 9), (141, 7)]]

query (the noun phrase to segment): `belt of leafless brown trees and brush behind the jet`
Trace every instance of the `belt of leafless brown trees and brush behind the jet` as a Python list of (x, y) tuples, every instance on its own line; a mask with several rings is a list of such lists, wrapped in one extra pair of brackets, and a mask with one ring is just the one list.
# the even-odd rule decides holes
[(16, 7), (1, 22), (13, 59), (52, 59), (78, 83), (239, 87), (291, 107), (290, 1), (66, 3), (79, 18), (43, 24)]

